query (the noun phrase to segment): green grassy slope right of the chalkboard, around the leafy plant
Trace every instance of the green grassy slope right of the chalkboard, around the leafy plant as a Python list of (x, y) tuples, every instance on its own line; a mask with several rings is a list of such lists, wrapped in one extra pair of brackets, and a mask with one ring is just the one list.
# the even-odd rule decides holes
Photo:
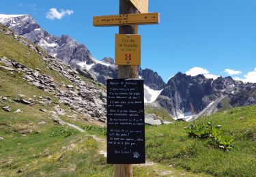
[(189, 123), (176, 123), (147, 129), (147, 157), (214, 176), (256, 176), (255, 112), (256, 106), (235, 108), (196, 121), (222, 125), (224, 133), (235, 139), (231, 152), (208, 147), (205, 140), (188, 138), (183, 128)]

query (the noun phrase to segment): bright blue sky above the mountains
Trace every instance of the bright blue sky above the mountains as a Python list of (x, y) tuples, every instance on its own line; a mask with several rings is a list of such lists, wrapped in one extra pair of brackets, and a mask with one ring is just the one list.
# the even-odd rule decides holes
[[(46, 18), (51, 8), (66, 16)], [(149, 11), (160, 12), (160, 25), (139, 27), (142, 68), (157, 71), (165, 82), (178, 71), (256, 82), (255, 0), (150, 0)], [(118, 27), (93, 27), (92, 17), (118, 12), (119, 0), (1, 0), (0, 10), (30, 14), (53, 35), (85, 44), (98, 60), (114, 58)]]

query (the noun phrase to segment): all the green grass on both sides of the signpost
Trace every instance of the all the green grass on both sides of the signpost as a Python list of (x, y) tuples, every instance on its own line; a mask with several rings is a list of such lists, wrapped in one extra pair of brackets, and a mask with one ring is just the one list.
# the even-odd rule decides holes
[[(0, 33), (0, 57), (15, 59), (27, 67), (39, 67), (45, 74), (57, 79), (57, 82), (70, 83), (58, 73), (47, 69), (42, 59), (29, 48), (15, 42), (12, 37)], [(0, 101), (0, 107), (12, 106), (11, 112), (0, 110), (0, 176), (16, 176), (23, 170), (22, 176), (113, 176), (113, 165), (106, 165), (102, 155), (98, 155), (97, 143), (88, 138), (87, 133), (80, 133), (68, 127), (55, 125), (51, 114), (40, 112), (40, 105), (25, 106), (12, 101), (18, 94), (27, 98), (49, 96), (48, 93), (31, 86), (21, 78), (22, 74), (9, 74), (0, 70), (0, 95), (8, 96), (10, 101)], [(57, 101), (55, 97), (51, 97)], [(53, 110), (55, 103), (44, 108)], [(65, 106), (61, 105), (65, 108)], [(16, 109), (23, 113), (14, 114)], [(165, 119), (165, 113), (154, 113)], [(134, 176), (160, 176), (155, 168), (170, 170), (169, 165), (183, 167), (192, 172), (204, 172), (214, 176), (253, 176), (255, 174), (255, 112), (256, 107), (236, 108), (215, 114), (198, 122), (212, 121), (223, 125), (225, 133), (233, 135), (235, 148), (229, 153), (208, 148), (205, 142), (189, 139), (183, 129), (188, 123), (176, 123), (146, 129), (147, 158), (159, 161), (163, 165), (152, 167), (134, 167)], [(79, 120), (64, 118), (81, 127), (87, 125), (83, 115)], [(166, 119), (169, 117), (166, 116)], [(41, 121), (46, 125), (38, 125)], [(22, 129), (33, 129), (33, 133), (23, 136)], [(37, 134), (35, 131), (41, 131)], [(91, 133), (101, 134), (101, 129)], [(172, 175), (197, 176), (184, 170), (171, 169)], [(203, 176), (203, 174), (198, 174)]]

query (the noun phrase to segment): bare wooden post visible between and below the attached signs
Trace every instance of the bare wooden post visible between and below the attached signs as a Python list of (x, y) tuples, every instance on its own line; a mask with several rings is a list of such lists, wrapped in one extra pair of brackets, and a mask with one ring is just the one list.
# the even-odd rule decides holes
[[(119, 0), (119, 14), (138, 14), (139, 11), (130, 0)], [(120, 26), (119, 34), (137, 34), (138, 25)], [(119, 65), (117, 71), (119, 79), (138, 78), (138, 66)], [(115, 177), (132, 177), (132, 164), (115, 164)]]

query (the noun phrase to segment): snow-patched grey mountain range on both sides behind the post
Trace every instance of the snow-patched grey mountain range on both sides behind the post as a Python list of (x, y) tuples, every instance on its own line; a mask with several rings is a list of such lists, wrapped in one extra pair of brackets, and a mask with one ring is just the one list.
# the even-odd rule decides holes
[[(117, 78), (117, 66), (114, 65), (113, 59), (104, 58), (101, 61), (94, 59), (84, 44), (79, 44), (68, 35), (61, 37), (51, 35), (42, 29), (31, 16), (0, 16), (0, 23), (49, 52), (51, 54), (51, 57), (48, 57), (49, 63), (55, 63), (56, 60), (56, 62), (62, 62), (61, 65), (68, 64), (71, 66), (69, 69), (74, 70), (75, 74), (81, 74), (89, 80), (102, 84), (106, 84), (107, 79)], [(67, 72), (59, 69), (57, 65), (58, 63), (55, 65), (57, 71), (70, 78)], [(152, 69), (139, 67), (138, 73), (139, 78), (143, 78), (145, 83), (145, 103), (153, 107), (165, 108), (175, 119), (192, 120), (192, 118), (210, 115), (219, 110), (256, 103), (255, 84), (236, 81), (231, 77), (219, 77), (213, 80), (203, 75), (191, 77), (177, 73), (166, 84)], [(32, 79), (31, 82), (38, 83), (38, 80)], [(77, 80), (72, 82), (79, 84)], [(78, 94), (77, 91), (74, 93)], [(85, 97), (83, 91), (79, 94), (80, 98)], [(65, 102), (70, 101), (63, 97), (60, 99)], [(75, 104), (71, 103), (71, 106), (77, 108)], [(102, 110), (99, 112), (102, 113)], [(94, 114), (91, 115), (94, 116)]]

